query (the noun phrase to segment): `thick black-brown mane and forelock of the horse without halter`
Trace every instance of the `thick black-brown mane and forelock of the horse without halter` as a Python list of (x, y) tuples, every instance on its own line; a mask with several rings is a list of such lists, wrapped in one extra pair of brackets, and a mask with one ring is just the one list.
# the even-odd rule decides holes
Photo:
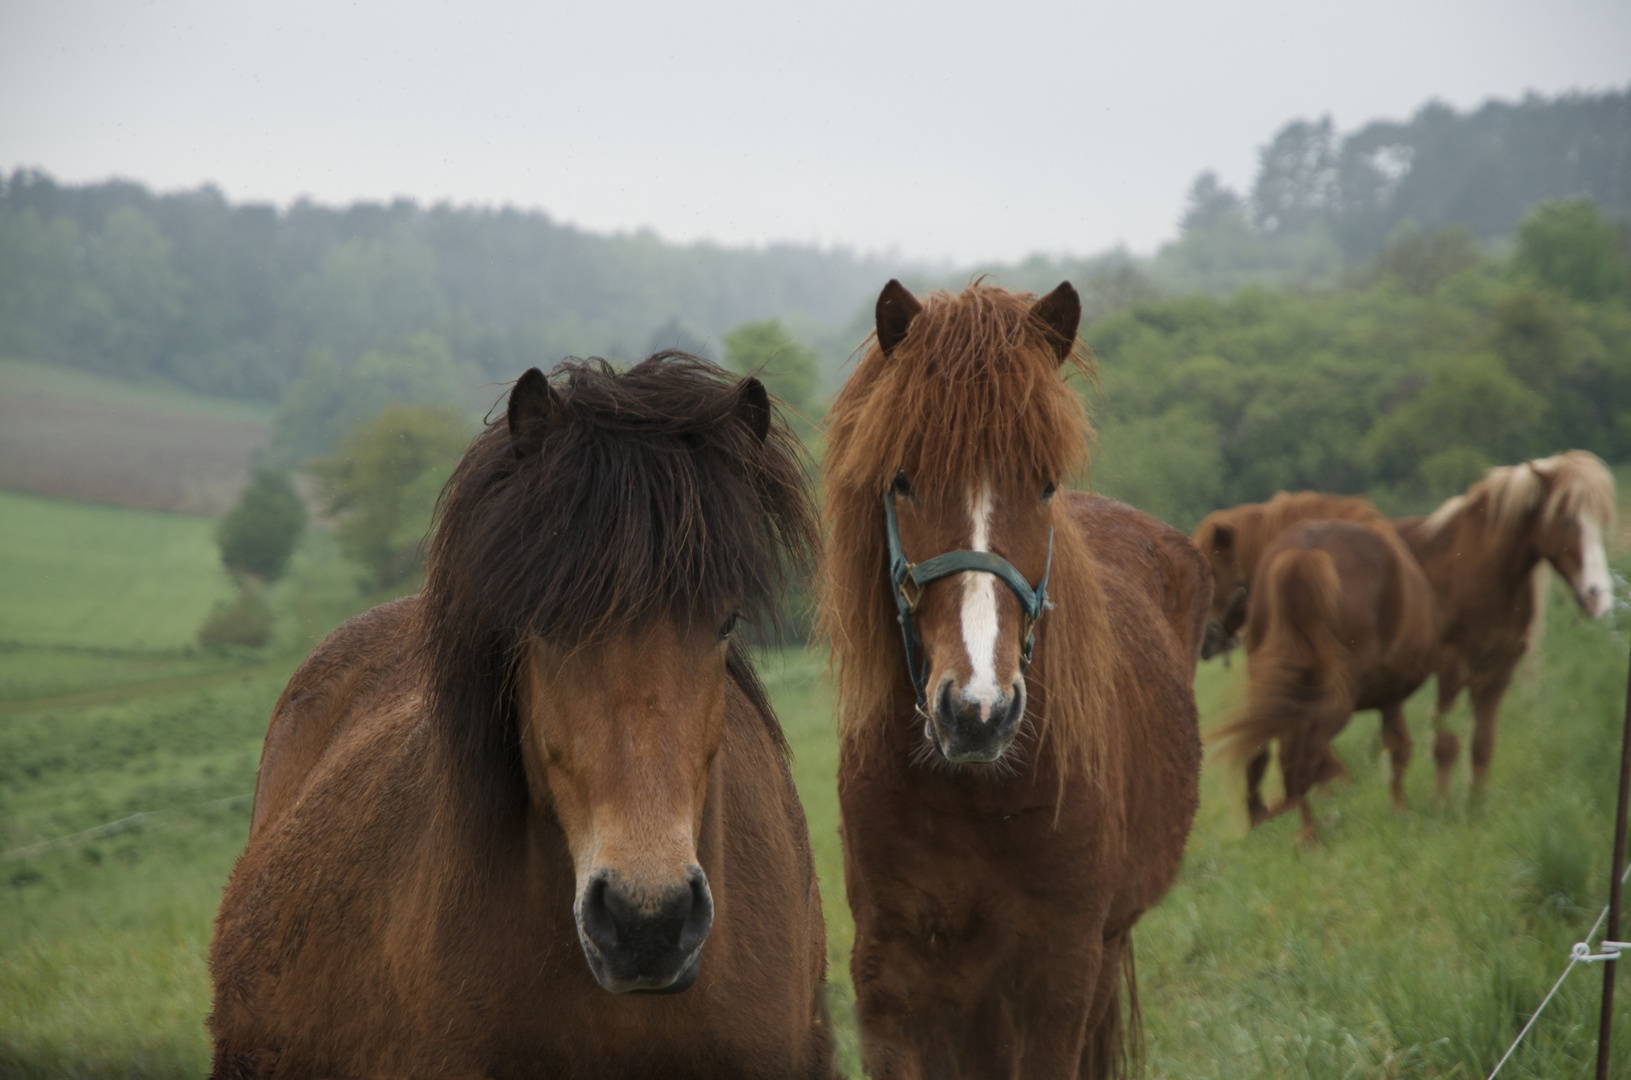
[[(517, 458), (501, 416), (442, 489), (421, 602), (427, 716), (494, 808), (525, 799), (512, 675), (528, 641), (770, 618), (819, 538), (796, 437), (775, 419), (760, 442), (729, 372), (670, 351), (550, 378), (563, 408), (541, 449)], [(729, 669), (770, 716), (736, 646)]]

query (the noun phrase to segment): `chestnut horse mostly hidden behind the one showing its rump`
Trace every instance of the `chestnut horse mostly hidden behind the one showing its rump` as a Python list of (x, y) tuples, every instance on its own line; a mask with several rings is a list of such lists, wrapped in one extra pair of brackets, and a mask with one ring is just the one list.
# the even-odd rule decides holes
[(1380, 520), (1370, 501), (1319, 491), (1280, 491), (1267, 502), (1243, 502), (1212, 511), (1196, 529), (1196, 547), (1212, 564), (1212, 615), (1200, 659), (1235, 648), (1246, 625), (1246, 597), (1262, 550), (1300, 520)]

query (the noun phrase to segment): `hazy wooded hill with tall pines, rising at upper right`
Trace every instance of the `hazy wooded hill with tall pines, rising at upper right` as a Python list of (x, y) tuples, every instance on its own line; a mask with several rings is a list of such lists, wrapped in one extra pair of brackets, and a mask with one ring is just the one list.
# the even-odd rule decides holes
[[(1331, 287), (1401, 232), (1461, 227), (1499, 246), (1541, 202), (1576, 196), (1631, 220), (1631, 86), (1468, 113), (1429, 103), (1409, 121), (1346, 135), (1329, 117), (1292, 121), (1262, 147), (1248, 193), (1202, 173), (1178, 240), (1122, 261), (1165, 295)], [(1032, 281), (1093, 271), (1070, 259), (1028, 266)], [(1120, 294), (1137, 292), (1125, 268), (1119, 276)]]

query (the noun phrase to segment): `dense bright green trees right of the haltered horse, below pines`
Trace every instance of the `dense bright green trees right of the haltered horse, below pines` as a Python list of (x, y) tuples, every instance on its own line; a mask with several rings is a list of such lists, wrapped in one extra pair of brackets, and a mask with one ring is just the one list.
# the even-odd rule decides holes
[(1147, 300), (1086, 336), (1096, 486), (1181, 525), (1280, 489), (1425, 509), (1483, 468), (1567, 447), (1631, 460), (1631, 258), (1585, 199), (1509, 259), (1403, 233), (1350, 287)]

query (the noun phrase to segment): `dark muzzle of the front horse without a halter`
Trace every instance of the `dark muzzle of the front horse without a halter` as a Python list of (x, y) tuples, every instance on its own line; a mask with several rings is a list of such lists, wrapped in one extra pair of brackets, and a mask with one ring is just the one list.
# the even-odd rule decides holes
[(589, 971), (605, 990), (678, 994), (696, 982), (713, 894), (701, 866), (657, 892), (628, 887), (602, 866), (589, 876), (576, 917)]

